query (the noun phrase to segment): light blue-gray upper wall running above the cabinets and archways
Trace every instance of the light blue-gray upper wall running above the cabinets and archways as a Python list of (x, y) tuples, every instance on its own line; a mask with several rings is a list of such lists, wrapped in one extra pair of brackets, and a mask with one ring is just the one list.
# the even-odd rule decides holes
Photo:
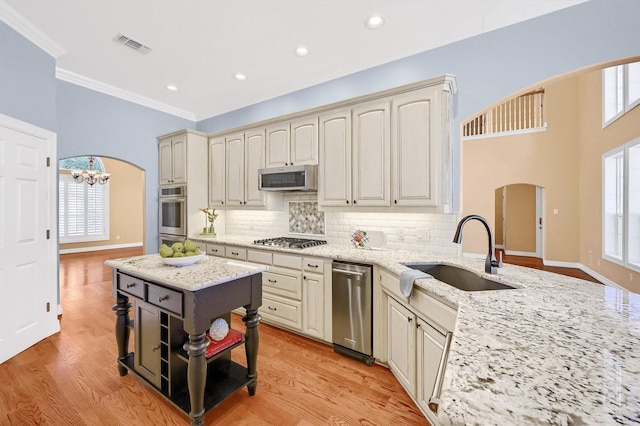
[[(57, 132), (60, 158), (104, 155), (144, 169), (147, 249), (154, 251), (158, 135), (185, 127), (224, 130), (454, 74), (459, 87), (455, 142), (464, 119), (515, 91), (585, 66), (640, 55), (638, 16), (640, 1), (591, 0), (198, 123), (56, 80), (54, 60), (0, 22), (0, 113)], [(456, 146), (455, 167), (458, 158)], [(456, 194), (458, 187), (456, 181)]]

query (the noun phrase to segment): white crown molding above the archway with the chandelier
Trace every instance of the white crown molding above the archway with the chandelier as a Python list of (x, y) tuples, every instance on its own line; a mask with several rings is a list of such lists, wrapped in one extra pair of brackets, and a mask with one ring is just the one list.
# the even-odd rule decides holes
[(166, 112), (167, 114), (185, 118), (193, 122), (196, 121), (196, 115), (190, 111), (185, 111), (183, 109), (176, 108), (171, 105), (164, 104), (162, 102), (154, 101), (153, 99), (149, 99), (144, 96), (140, 96), (135, 93), (129, 92), (127, 90), (123, 90), (118, 87), (111, 86), (109, 84), (102, 83), (100, 81), (93, 80), (88, 77), (81, 76), (79, 74), (64, 70), (62, 68), (56, 68), (56, 78), (58, 80), (66, 81), (68, 83), (86, 87), (87, 89), (95, 90), (96, 92), (114, 96), (116, 98), (123, 99), (128, 102), (133, 102), (135, 104), (146, 106), (161, 112)]

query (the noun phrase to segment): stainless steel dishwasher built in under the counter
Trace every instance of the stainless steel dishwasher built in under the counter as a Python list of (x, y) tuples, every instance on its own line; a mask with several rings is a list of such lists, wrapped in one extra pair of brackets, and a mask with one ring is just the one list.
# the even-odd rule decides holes
[(373, 267), (333, 262), (334, 352), (373, 364)]

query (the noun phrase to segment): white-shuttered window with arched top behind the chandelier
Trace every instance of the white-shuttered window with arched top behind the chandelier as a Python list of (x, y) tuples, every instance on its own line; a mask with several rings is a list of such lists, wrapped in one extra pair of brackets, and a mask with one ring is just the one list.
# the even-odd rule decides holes
[[(58, 181), (58, 235), (60, 243), (104, 241), (109, 239), (109, 182), (104, 185), (76, 183), (66, 170), (86, 169), (87, 157), (60, 161)], [(94, 168), (104, 170), (94, 158)]]

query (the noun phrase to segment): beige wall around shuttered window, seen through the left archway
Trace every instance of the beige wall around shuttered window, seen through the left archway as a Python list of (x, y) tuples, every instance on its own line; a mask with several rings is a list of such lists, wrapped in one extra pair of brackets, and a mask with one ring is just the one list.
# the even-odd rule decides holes
[[(124, 161), (100, 157), (109, 179), (108, 241), (60, 244), (60, 250), (103, 247), (145, 241), (144, 171)], [(62, 171), (68, 173), (67, 171)]]

